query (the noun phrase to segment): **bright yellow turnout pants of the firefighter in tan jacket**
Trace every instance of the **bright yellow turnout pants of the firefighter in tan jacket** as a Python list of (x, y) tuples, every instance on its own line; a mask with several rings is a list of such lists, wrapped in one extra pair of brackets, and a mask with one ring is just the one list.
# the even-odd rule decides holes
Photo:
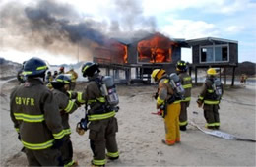
[(165, 141), (174, 144), (180, 141), (179, 132), (180, 103), (172, 103), (167, 106), (167, 114), (164, 117)]

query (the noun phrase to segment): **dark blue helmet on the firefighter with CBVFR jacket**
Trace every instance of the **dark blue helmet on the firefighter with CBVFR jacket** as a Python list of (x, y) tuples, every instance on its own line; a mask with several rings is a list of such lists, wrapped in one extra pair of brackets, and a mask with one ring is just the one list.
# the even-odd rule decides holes
[(46, 70), (48, 70), (46, 63), (39, 58), (33, 57), (26, 61), (23, 74), (28, 77), (37, 77), (45, 75)]

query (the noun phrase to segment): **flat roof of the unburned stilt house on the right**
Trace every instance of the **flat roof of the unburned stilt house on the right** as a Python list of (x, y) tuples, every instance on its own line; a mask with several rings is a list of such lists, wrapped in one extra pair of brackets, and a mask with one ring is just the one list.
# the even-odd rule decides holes
[(222, 39), (217, 37), (205, 37), (205, 38), (198, 38), (198, 39), (191, 39), (186, 40), (186, 42), (191, 45), (212, 45), (214, 44), (226, 44), (226, 43), (236, 43), (238, 44), (238, 41), (236, 40), (229, 40), (229, 39)]

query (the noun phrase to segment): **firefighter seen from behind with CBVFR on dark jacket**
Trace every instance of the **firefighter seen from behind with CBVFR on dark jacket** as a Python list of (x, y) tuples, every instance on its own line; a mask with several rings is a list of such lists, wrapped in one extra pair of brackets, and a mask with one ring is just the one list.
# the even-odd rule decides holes
[(24, 84), (10, 96), (11, 119), (25, 147), (29, 166), (63, 165), (60, 146), (64, 131), (52, 92), (43, 84), (46, 63), (31, 58), (24, 65)]

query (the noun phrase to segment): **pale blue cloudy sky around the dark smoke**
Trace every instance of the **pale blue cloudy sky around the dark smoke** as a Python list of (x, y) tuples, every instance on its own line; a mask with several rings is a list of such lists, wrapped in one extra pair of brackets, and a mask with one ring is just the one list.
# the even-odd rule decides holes
[[(32, 6), (38, 2), (19, 1), (25, 6)], [(113, 29), (122, 32), (154, 29), (172, 38), (196, 39), (211, 36), (236, 40), (238, 61), (256, 63), (256, 0), (55, 0), (54, 2), (73, 9), (72, 15), (67, 14), (69, 20), (94, 21), (101, 30), (107, 32), (114, 33)], [(0, 0), (0, 8), (8, 3), (12, 1)], [(12, 19), (17, 18), (19, 19), (19, 15)], [(5, 59), (22, 63), (31, 57), (43, 55), (43, 59), (50, 64), (78, 62), (76, 46), (68, 46), (70, 47), (68, 52), (57, 53), (48, 51), (49, 47), (21, 49), (19, 46), (23, 45), (23, 34), (14, 34), (13, 30), (10, 32), (3, 27), (0, 27), (0, 34), (0, 57)], [(12, 44), (8, 45), (10, 41)], [(74, 55), (70, 56), (70, 54)], [(191, 55), (191, 49), (182, 49), (183, 60), (192, 62)]]

